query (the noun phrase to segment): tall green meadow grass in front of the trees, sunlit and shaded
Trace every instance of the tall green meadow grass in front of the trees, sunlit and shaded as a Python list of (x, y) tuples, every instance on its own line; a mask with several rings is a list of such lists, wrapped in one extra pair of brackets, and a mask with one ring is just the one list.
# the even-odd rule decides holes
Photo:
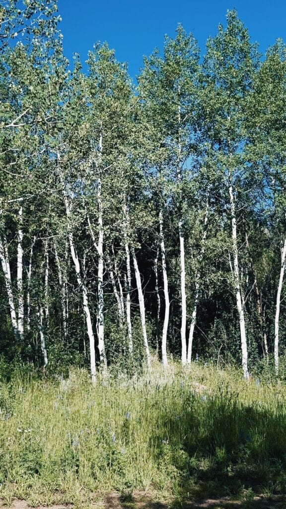
[[(203, 384), (206, 388), (202, 387)], [(88, 502), (285, 493), (286, 386), (193, 363), (150, 374), (14, 377), (0, 390), (0, 498)]]

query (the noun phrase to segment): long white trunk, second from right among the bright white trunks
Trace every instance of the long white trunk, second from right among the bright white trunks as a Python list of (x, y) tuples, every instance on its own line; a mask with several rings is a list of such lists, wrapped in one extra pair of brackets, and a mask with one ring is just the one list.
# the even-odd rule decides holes
[(245, 330), (245, 320), (244, 320), (244, 303), (241, 294), (240, 288), (240, 278), (239, 278), (239, 262), (238, 262), (238, 246), (237, 246), (237, 226), (236, 226), (236, 211), (235, 211), (235, 200), (233, 194), (233, 186), (230, 184), (228, 186), (228, 192), (230, 193), (230, 202), (231, 202), (231, 214), (232, 214), (232, 239), (233, 239), (233, 277), (234, 277), (234, 285), (236, 291), (236, 303), (237, 310), (239, 316), (239, 327), (240, 327), (240, 338), (241, 338), (241, 352), (242, 352), (242, 369), (244, 378), (248, 380), (248, 353), (247, 353), (247, 341), (246, 341), (246, 330)]

